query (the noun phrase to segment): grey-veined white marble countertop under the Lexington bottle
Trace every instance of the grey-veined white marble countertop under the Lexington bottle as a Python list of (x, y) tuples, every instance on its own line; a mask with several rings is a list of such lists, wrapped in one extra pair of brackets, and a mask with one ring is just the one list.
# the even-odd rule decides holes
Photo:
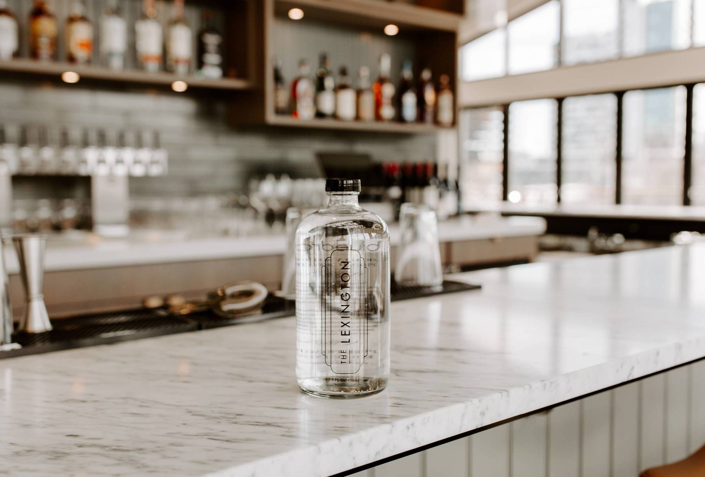
[(387, 390), (302, 394), (294, 318), (0, 361), (0, 473), (322, 477), (705, 356), (705, 244), (392, 304)]

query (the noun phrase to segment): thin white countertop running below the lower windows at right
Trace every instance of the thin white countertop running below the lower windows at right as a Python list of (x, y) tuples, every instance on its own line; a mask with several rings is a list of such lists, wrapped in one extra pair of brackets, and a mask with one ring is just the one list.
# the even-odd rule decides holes
[(527, 205), (503, 202), (483, 207), (467, 207), (468, 212), (501, 212), (505, 214), (614, 217), (616, 219), (689, 220), (705, 222), (705, 207), (696, 205)]

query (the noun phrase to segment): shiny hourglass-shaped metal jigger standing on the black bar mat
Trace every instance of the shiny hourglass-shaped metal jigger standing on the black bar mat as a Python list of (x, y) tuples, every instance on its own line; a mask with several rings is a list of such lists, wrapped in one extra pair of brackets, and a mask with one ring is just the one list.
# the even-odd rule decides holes
[(47, 236), (39, 234), (16, 235), (12, 238), (20, 261), (22, 283), (27, 293), (27, 308), (20, 320), (19, 332), (42, 333), (51, 330), (49, 313), (44, 305), (44, 254)]

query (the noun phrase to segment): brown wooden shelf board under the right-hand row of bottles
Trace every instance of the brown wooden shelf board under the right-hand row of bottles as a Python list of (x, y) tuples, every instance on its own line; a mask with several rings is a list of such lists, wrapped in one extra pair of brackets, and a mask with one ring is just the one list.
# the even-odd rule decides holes
[(281, 114), (271, 115), (266, 123), (271, 126), (284, 126), (289, 128), (333, 129), (337, 131), (369, 131), (371, 133), (405, 133), (405, 134), (431, 134), (438, 131), (447, 131), (452, 127), (436, 126), (435, 124), (420, 123), (381, 123), (377, 121), (340, 121), (338, 119), (295, 119)]

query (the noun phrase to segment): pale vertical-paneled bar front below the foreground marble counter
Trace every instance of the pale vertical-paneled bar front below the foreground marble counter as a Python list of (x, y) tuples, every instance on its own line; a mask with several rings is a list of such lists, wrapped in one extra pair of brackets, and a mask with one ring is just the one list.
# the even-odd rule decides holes
[(637, 476), (705, 445), (705, 360), (353, 477)]

